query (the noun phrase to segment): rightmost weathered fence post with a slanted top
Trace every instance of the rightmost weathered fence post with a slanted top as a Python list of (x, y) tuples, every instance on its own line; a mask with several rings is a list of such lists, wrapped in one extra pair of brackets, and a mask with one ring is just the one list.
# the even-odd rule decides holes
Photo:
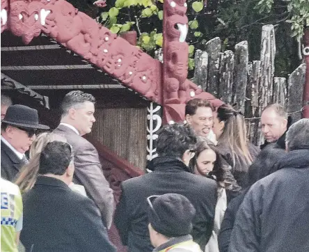
[(303, 84), (305, 83), (306, 64), (299, 65), (298, 68), (290, 74), (287, 81), (287, 111), (291, 113), (292, 121), (301, 119), (301, 102), (303, 98)]

